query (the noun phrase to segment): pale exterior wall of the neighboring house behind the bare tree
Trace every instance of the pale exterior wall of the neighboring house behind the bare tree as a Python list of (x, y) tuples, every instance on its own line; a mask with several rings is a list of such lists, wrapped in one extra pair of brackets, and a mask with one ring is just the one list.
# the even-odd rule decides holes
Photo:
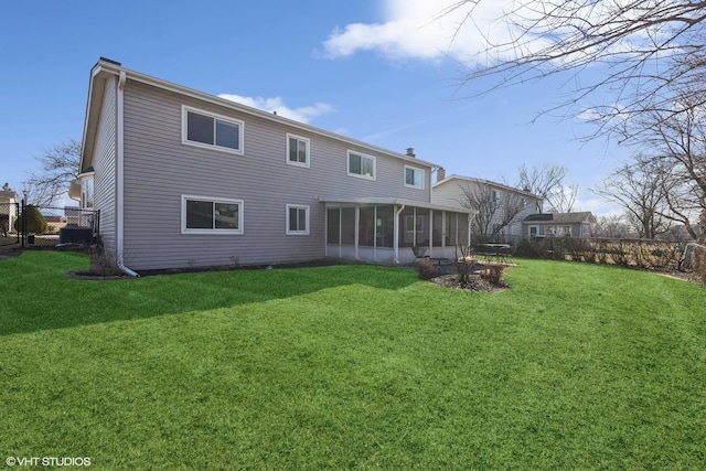
[[(467, 196), (463, 193), (464, 189), (470, 189), (471, 191), (480, 191), (483, 185), (490, 185), (493, 190), (496, 190), (500, 193), (500, 197), (505, 197), (511, 190), (501, 185), (493, 185), (492, 182), (479, 182), (472, 179), (460, 179), (450, 176), (446, 181), (441, 181), (438, 184), (434, 185), (432, 189), (432, 201), (435, 204), (442, 204), (453, 207), (464, 207), (463, 202), (467, 201)], [(510, 223), (505, 228), (502, 229), (502, 234), (506, 236), (521, 236), (523, 235), (523, 224), (522, 221), (531, 214), (537, 214), (541, 211), (537, 211), (537, 206), (541, 207), (542, 200), (537, 197), (532, 197), (528, 194), (516, 192), (515, 194), (521, 197), (526, 199), (526, 206), (514, 218), (514, 222)], [(501, 224), (502, 214), (499, 211), (498, 214), (493, 215), (492, 224)]]

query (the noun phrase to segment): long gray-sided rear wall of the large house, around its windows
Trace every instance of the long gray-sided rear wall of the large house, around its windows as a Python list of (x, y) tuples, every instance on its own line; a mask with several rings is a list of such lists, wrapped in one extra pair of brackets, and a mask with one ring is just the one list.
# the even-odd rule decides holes
[[(244, 156), (181, 142), (182, 105), (245, 122)], [(287, 132), (311, 140), (310, 168), (287, 164)], [(347, 150), (376, 157), (377, 180), (346, 173)], [(125, 89), (125, 263), (132, 269), (282, 263), (325, 256), (319, 197), (430, 201), (404, 185), (403, 159), (299, 130), (287, 124), (128, 79)], [(414, 164), (414, 163), (413, 163)], [(243, 235), (181, 234), (181, 195), (244, 201)], [(286, 205), (310, 206), (309, 235), (286, 235)]]

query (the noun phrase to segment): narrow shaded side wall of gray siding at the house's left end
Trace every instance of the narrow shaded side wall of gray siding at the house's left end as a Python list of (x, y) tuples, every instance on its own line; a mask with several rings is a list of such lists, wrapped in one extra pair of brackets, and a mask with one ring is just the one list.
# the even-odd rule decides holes
[(94, 206), (100, 210), (100, 237), (109, 256), (116, 255), (116, 82), (106, 82), (93, 152)]

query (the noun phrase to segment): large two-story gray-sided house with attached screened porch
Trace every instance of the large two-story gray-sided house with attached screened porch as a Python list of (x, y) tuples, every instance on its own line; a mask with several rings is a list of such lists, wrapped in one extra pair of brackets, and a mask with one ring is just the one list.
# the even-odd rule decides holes
[(407, 263), (470, 243), (469, 211), (431, 203), (437, 167), (101, 58), (69, 194), (128, 272)]

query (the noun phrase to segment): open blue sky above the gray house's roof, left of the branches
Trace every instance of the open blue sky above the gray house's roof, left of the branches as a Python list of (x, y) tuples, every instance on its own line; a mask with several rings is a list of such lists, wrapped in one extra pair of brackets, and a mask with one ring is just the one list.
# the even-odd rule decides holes
[[(404, 152), (457, 173), (514, 183), (517, 168), (557, 163), (581, 188), (575, 211), (614, 210), (587, 191), (627, 157), (582, 144), (578, 120), (536, 117), (561, 98), (556, 79), (471, 98), (450, 42), (428, 21), (450, 0), (297, 2), (8, 2), (0, 18), (0, 184), (22, 189), (36, 158), (81, 139), (90, 67), (127, 68)], [(479, 88), (483, 83), (477, 84)]]

